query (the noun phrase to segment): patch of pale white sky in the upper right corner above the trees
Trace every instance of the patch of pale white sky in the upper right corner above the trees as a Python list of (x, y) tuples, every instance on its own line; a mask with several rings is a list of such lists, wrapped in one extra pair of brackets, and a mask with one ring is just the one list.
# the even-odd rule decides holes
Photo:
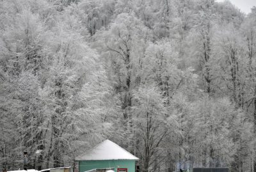
[[(225, 0), (216, 0), (217, 2), (223, 2)], [(237, 8), (244, 13), (248, 14), (253, 6), (256, 6), (256, 0), (229, 0)]]

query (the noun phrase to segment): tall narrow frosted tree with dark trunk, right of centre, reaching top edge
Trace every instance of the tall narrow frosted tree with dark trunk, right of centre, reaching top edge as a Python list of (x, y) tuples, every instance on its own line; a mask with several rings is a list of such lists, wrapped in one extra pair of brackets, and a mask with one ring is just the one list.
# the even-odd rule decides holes
[[(211, 54), (212, 54), (212, 25), (214, 25), (213, 1), (202, 1), (200, 3), (200, 11), (196, 16), (198, 25), (195, 29), (191, 29), (189, 45), (191, 44), (192, 56), (197, 56), (200, 74), (203, 79), (203, 87), (205, 92), (211, 96), (214, 92), (212, 87), (212, 71), (211, 71)], [(192, 38), (191, 38), (192, 37)], [(193, 57), (192, 57), (193, 58)], [(198, 63), (196, 63), (198, 64)]]

